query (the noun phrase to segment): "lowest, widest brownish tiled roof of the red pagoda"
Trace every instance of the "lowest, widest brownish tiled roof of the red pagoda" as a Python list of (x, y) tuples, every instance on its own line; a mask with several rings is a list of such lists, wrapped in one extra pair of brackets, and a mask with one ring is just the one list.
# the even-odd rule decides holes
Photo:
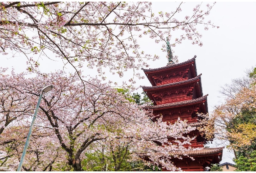
[[(179, 155), (179, 156), (192, 156), (192, 157), (200, 157), (204, 155), (212, 155), (212, 154), (218, 154), (223, 152), (224, 147), (219, 147), (219, 148), (203, 148), (203, 149), (195, 149), (195, 150), (188, 150), (188, 151), (170, 151), (169, 154), (170, 156), (174, 155)], [(147, 155), (146, 152), (140, 152), (137, 153), (141, 157), (148, 158), (149, 156)], [(157, 153), (158, 155), (158, 153)], [(161, 154), (159, 153), (159, 156), (161, 157)]]

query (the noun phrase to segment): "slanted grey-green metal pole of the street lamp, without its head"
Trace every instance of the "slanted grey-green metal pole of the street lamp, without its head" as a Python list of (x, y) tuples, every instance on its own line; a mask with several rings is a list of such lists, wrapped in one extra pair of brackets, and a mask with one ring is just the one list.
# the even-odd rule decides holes
[(28, 137), (27, 137), (27, 140), (26, 140), (25, 147), (23, 149), (22, 156), (20, 158), (20, 164), (19, 164), (19, 167), (18, 167), (17, 171), (21, 171), (21, 167), (22, 167), (22, 164), (24, 162), (26, 151), (27, 151), (28, 146), (29, 146), (29, 140), (30, 140), (30, 136), (31, 136), (31, 133), (32, 133), (32, 128), (33, 128), (34, 123), (35, 123), (35, 118), (36, 118), (36, 115), (37, 115), (37, 112), (38, 112), (38, 109), (39, 109), (39, 106), (40, 106), (42, 96), (43, 96), (43, 90), (40, 92), (40, 96), (39, 96), (39, 99), (38, 99), (38, 102), (37, 102), (37, 105), (36, 105), (36, 108), (35, 108), (34, 117), (33, 117), (32, 122), (31, 122), (31, 126), (30, 126), (30, 129), (29, 129), (29, 134), (28, 134)]

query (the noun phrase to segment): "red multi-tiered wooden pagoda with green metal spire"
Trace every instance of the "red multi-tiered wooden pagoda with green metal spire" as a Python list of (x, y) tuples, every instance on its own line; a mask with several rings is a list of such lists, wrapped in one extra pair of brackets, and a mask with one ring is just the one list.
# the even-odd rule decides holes
[[(152, 85), (152, 87), (142, 88), (154, 104), (145, 109), (153, 110), (155, 117), (162, 115), (162, 121), (174, 123), (180, 117), (182, 120), (186, 119), (190, 126), (202, 126), (204, 125), (203, 122), (199, 121), (202, 117), (199, 117), (197, 113), (206, 114), (208, 112), (208, 94), (203, 96), (202, 74), (197, 75), (196, 55), (188, 61), (175, 64), (172, 61), (168, 40), (167, 52), (169, 62), (167, 66), (157, 69), (142, 68)], [(207, 140), (197, 129), (186, 135), (196, 136), (191, 141), (191, 147), (203, 149), (187, 151), (187, 154), (192, 156), (194, 160), (182, 155), (182, 160), (171, 159), (176, 167), (180, 167), (183, 171), (205, 171), (205, 167), (221, 161), (224, 147), (204, 148)], [(173, 141), (171, 138), (168, 140)], [(184, 147), (188, 147), (188, 145)], [(170, 153), (170, 155), (175, 154), (179, 153)], [(162, 170), (167, 171), (166, 169)]]

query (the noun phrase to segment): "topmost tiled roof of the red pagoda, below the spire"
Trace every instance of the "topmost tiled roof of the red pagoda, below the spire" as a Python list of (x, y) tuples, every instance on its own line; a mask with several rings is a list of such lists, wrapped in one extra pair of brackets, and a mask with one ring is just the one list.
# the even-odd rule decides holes
[[(168, 71), (170, 69), (176, 69), (176, 68), (180, 68), (182, 66), (187, 66), (188, 64), (194, 64), (195, 65), (195, 69), (196, 69), (196, 56), (192, 59), (189, 59), (185, 62), (181, 62), (178, 64), (171, 64), (171, 65), (166, 65), (165, 67), (160, 67), (160, 68), (156, 68), (156, 69), (144, 69), (141, 68), (141, 70), (143, 70), (145, 73), (147, 72), (155, 72), (155, 71)], [(197, 76), (197, 71), (196, 71), (196, 76)]]

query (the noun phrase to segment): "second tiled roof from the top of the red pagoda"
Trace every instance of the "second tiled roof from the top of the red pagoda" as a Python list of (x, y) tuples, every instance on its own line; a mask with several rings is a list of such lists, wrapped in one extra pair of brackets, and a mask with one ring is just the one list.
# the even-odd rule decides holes
[[(153, 86), (153, 87), (145, 87), (145, 86), (140, 86), (140, 87), (142, 87), (142, 89), (144, 90), (144, 91), (148, 91), (148, 90), (156, 90), (156, 89), (158, 89), (158, 88), (161, 88), (161, 89), (167, 89), (167, 88), (170, 88), (170, 87), (173, 87), (173, 86), (175, 86), (175, 87), (180, 87), (180, 86), (185, 86), (185, 85), (187, 85), (187, 84), (191, 84), (191, 83), (193, 83), (193, 82), (195, 82), (195, 81), (197, 81), (198, 79), (201, 79), (201, 75), (202, 75), (202, 73), (201, 74), (199, 74), (197, 77), (194, 77), (194, 78), (192, 78), (192, 79), (188, 79), (188, 80), (185, 80), (185, 81), (180, 81), (180, 82), (175, 82), (175, 83), (170, 83), (170, 84), (164, 84), (164, 85), (159, 85), (159, 86)], [(202, 87), (201, 87), (202, 88)], [(202, 92), (202, 89), (201, 89), (201, 92)]]

